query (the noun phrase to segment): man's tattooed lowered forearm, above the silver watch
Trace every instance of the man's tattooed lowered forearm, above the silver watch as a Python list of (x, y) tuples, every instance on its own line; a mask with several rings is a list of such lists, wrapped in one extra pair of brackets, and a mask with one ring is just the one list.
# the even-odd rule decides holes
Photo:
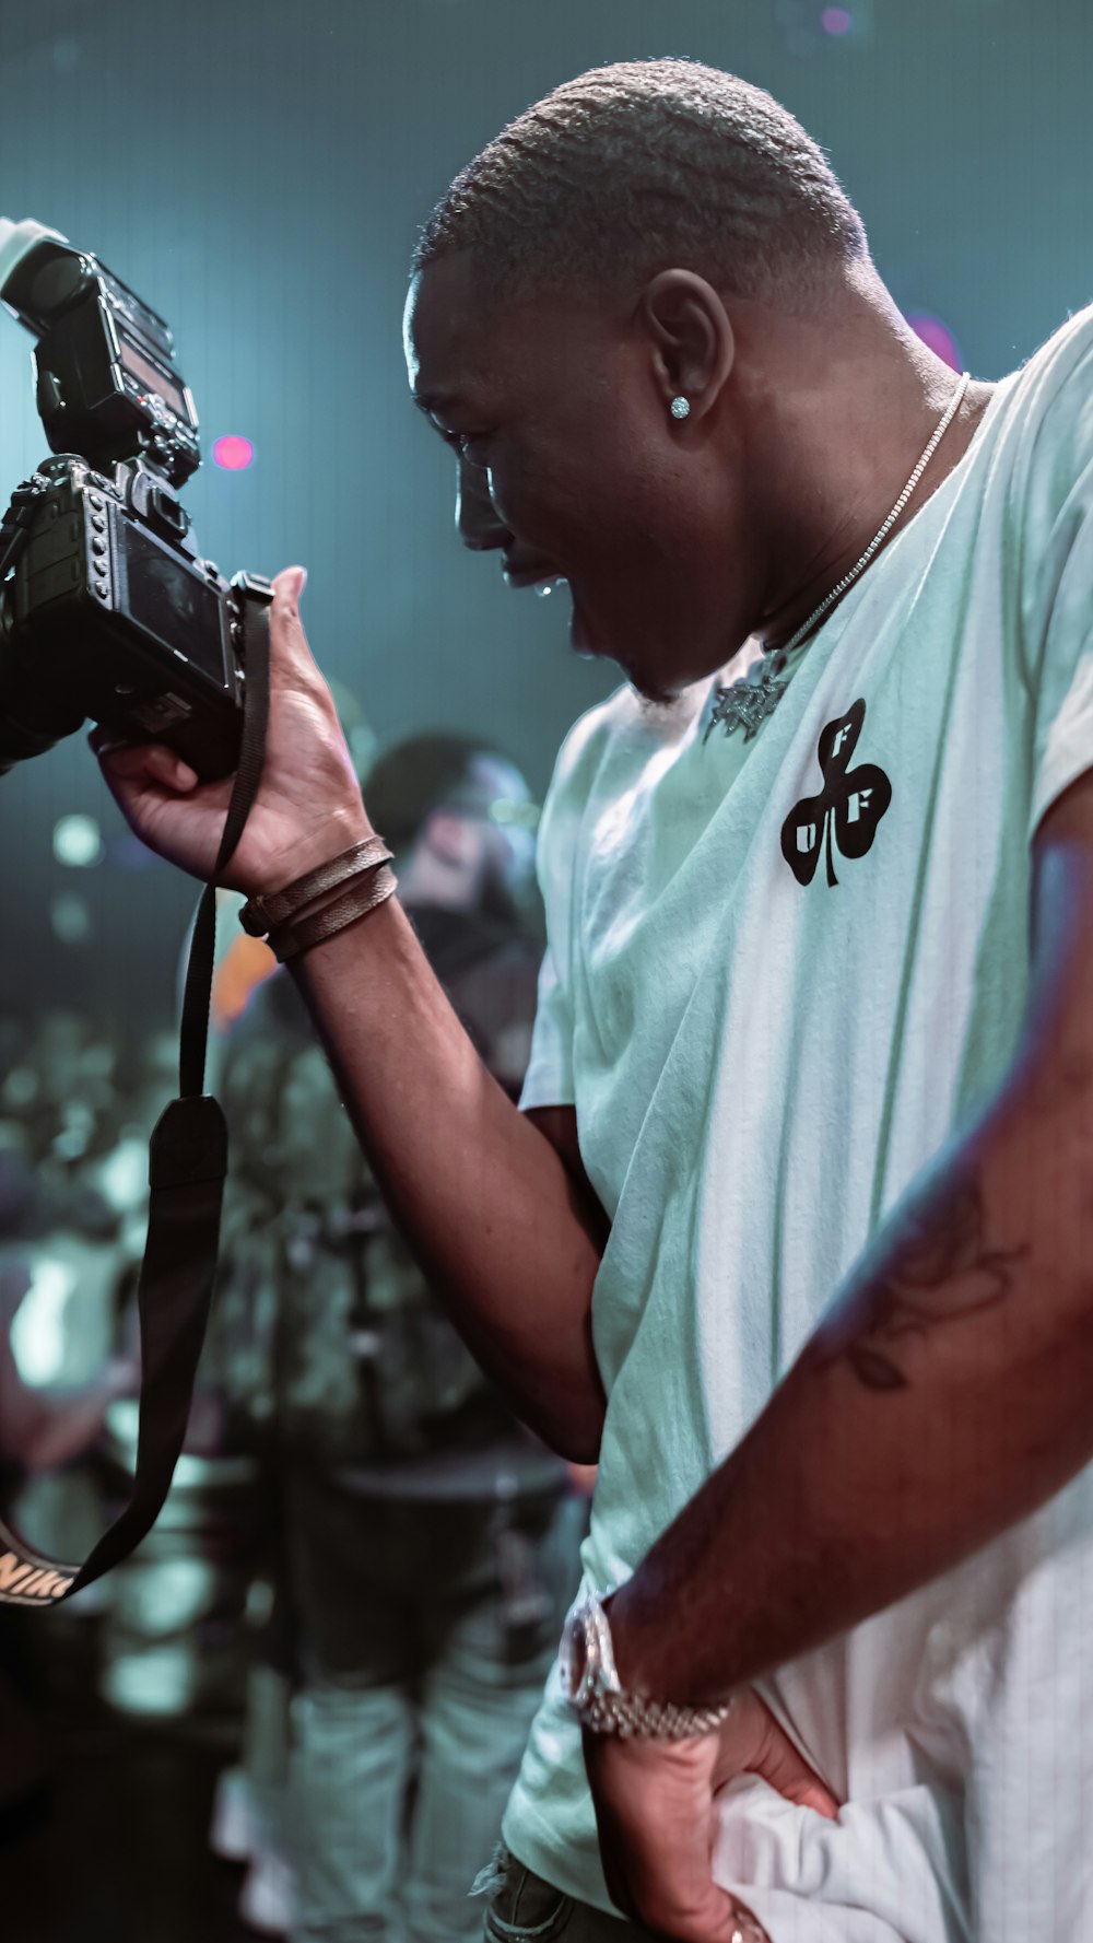
[(623, 1683), (720, 1696), (1058, 1490), (1093, 1455), (1091, 1245), (1089, 1102), (1000, 1102), (612, 1601)]

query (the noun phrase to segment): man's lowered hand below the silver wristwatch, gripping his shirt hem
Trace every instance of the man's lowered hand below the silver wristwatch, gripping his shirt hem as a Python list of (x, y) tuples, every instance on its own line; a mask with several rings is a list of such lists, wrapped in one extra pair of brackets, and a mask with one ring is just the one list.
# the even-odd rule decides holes
[(600, 1858), (612, 1902), (633, 1922), (678, 1943), (753, 1943), (763, 1929), (711, 1877), (714, 1795), (738, 1774), (757, 1774), (788, 1801), (835, 1819), (839, 1803), (782, 1733), (769, 1706), (744, 1687), (718, 1733), (693, 1741), (584, 1733)]

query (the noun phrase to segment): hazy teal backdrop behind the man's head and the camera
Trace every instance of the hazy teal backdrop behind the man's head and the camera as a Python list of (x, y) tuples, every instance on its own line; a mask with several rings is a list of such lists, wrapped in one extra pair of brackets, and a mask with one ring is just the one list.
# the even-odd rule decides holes
[[(452, 466), (400, 348), (417, 223), (528, 101), (602, 60), (693, 54), (771, 87), (831, 152), (897, 301), (980, 377), (1093, 295), (1081, 0), (134, 0), (0, 4), (0, 214), (97, 251), (175, 326), (212, 464), (186, 494), (225, 571), (303, 562), (313, 647), (382, 742), (481, 731), (536, 789), (615, 674), (567, 602), (452, 540)], [(0, 317), (0, 490), (45, 455), (29, 338)], [(56, 816), (107, 861), (52, 861)], [(0, 1010), (169, 1020), (192, 890), (138, 863), (82, 738), (0, 781)], [(49, 925), (83, 898), (89, 937)]]

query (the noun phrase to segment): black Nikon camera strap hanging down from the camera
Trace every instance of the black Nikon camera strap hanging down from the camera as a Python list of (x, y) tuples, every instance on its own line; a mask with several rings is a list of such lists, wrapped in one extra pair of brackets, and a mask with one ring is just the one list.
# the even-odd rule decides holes
[(227, 1125), (206, 1094), (206, 1049), (215, 956), (215, 884), (250, 812), (266, 760), (270, 717), (270, 602), (256, 573), (235, 575), (243, 620), (243, 746), (212, 882), (206, 884), (186, 964), (179, 1040), (179, 1098), (149, 1144), (148, 1244), (140, 1269), (140, 1426), (132, 1494), (83, 1564), (31, 1551), (0, 1519), (0, 1605), (49, 1607), (126, 1558), (155, 1523), (182, 1449), (194, 1376), (212, 1306)]

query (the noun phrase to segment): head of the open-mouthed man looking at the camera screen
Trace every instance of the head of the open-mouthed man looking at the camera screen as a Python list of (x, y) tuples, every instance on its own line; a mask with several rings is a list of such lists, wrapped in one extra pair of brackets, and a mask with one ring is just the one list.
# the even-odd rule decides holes
[(784, 371), (874, 276), (763, 89), (687, 60), (557, 87), (456, 177), (414, 258), (410, 375), (458, 451), (466, 544), (516, 585), (569, 579), (575, 645), (652, 698), (720, 666), (771, 591)]

